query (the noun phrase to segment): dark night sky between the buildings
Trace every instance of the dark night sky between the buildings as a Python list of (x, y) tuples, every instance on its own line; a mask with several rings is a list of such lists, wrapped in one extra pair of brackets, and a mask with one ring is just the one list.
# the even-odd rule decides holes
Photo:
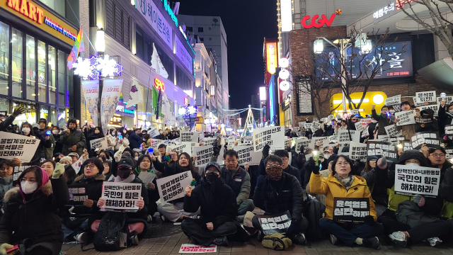
[(258, 94), (259, 87), (264, 86), (263, 40), (277, 38), (276, 3), (275, 0), (180, 0), (180, 14), (222, 18), (228, 43), (230, 108), (247, 108), (251, 95)]

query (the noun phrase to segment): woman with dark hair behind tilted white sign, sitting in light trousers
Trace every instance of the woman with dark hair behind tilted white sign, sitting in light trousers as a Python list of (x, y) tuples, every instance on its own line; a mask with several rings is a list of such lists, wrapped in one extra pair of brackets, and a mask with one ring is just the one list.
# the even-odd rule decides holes
[[(165, 166), (162, 177), (172, 176), (174, 174), (181, 174), (185, 171), (190, 171), (192, 178), (197, 183), (200, 183), (201, 176), (197, 173), (197, 169), (193, 166), (192, 157), (186, 152), (179, 154), (178, 162), (167, 164)], [(157, 210), (161, 214), (163, 220), (170, 220), (171, 222), (182, 221), (186, 217), (197, 215), (197, 212), (185, 212), (184, 198), (178, 198), (168, 202), (161, 203), (157, 206)]]

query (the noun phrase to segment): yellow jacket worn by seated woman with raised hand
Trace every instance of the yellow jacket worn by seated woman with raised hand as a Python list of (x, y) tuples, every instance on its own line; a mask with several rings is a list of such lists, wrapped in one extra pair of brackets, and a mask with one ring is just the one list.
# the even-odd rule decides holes
[(371, 191), (367, 186), (367, 181), (360, 176), (354, 176), (349, 191), (335, 177), (329, 175), (327, 178), (321, 177), (320, 174), (311, 173), (310, 176), (310, 193), (326, 195), (326, 213), (324, 217), (332, 220), (333, 216), (333, 198), (369, 198), (369, 215), (377, 220), (374, 201), (371, 198)]

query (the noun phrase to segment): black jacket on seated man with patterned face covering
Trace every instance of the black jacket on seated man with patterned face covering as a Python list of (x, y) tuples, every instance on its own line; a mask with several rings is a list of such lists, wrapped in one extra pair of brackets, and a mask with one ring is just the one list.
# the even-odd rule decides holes
[(274, 215), (289, 210), (292, 220), (302, 220), (304, 211), (302, 188), (296, 177), (282, 172), (282, 179), (271, 181), (269, 176), (264, 178), (263, 186), (256, 186), (253, 195), (253, 204), (258, 208), (265, 208), (266, 214)]

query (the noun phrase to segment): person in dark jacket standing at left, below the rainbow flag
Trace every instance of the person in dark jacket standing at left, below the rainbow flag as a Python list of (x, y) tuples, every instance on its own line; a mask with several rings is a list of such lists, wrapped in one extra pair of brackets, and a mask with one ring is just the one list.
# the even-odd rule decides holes
[(84, 132), (76, 129), (77, 121), (74, 118), (68, 120), (68, 128), (64, 130), (60, 136), (60, 141), (63, 144), (63, 154), (67, 155), (69, 152), (77, 152), (79, 156), (84, 153), (84, 146), (86, 139)]

